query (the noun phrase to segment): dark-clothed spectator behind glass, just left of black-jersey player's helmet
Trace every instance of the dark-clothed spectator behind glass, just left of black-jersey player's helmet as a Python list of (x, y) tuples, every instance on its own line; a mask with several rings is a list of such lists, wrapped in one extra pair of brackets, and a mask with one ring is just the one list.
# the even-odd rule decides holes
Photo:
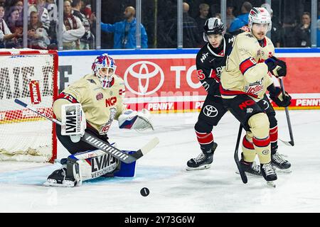
[(196, 20), (188, 15), (189, 5), (186, 2), (182, 4), (183, 9), (183, 48), (201, 47), (200, 33)]

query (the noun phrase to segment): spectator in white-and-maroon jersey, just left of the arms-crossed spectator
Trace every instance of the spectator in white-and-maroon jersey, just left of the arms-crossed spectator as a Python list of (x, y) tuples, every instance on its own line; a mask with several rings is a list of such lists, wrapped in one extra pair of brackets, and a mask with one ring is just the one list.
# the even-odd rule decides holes
[(39, 21), (38, 13), (32, 11), (28, 24), (28, 48), (46, 50), (49, 44), (48, 33)]

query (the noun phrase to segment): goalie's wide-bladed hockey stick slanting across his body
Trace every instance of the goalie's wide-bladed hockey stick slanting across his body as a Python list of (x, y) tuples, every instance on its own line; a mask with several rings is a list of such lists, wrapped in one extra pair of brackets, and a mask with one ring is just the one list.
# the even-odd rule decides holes
[[(58, 121), (55, 118), (50, 118), (46, 116), (45, 114), (41, 114), (36, 109), (33, 109), (32, 107), (29, 107), (27, 104), (25, 104), (23, 101), (20, 101), (18, 99), (14, 99), (14, 102), (16, 104), (19, 104), (20, 106), (23, 106), (34, 113), (43, 116), (44, 118), (48, 119), (49, 121), (53, 121), (54, 123), (57, 123), (61, 126), (61, 122)], [(81, 140), (85, 143), (88, 143), (92, 145), (93, 147), (102, 150), (103, 152), (112, 155), (112, 157), (116, 157), (117, 159), (121, 160), (124, 163), (131, 163), (136, 160), (138, 160), (140, 157), (146, 155), (146, 153), (149, 153), (151, 149), (153, 149), (158, 143), (159, 138), (155, 137), (152, 140), (149, 141), (144, 147), (137, 150), (135, 153), (129, 155), (127, 153), (124, 153), (122, 150), (119, 150), (118, 148), (114, 148), (112, 145), (105, 143), (105, 141), (100, 140), (99, 138), (95, 137), (95, 135), (92, 135), (91, 133), (85, 132), (85, 135), (81, 137)]]

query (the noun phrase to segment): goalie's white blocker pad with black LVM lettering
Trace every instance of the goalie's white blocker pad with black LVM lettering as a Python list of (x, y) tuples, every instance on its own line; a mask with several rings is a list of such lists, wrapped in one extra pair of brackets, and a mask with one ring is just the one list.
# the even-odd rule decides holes
[(61, 135), (69, 135), (73, 143), (78, 143), (85, 135), (87, 122), (81, 104), (61, 106)]

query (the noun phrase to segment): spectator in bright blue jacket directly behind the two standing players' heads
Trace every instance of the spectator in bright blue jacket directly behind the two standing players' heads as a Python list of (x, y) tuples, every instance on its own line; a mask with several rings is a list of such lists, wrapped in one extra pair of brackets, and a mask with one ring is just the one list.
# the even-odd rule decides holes
[(252, 9), (252, 5), (249, 1), (245, 1), (241, 6), (241, 14), (235, 18), (233, 23), (230, 24), (229, 33), (232, 35), (238, 35), (240, 28), (247, 26), (249, 21), (249, 12)]

